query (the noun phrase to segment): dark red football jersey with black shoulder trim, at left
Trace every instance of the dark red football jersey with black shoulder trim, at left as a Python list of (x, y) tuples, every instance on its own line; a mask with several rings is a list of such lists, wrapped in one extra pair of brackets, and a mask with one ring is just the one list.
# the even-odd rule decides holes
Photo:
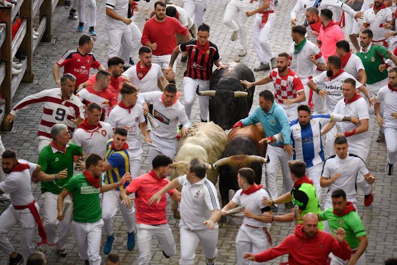
[(82, 55), (78, 49), (67, 51), (57, 64), (64, 67), (64, 74), (68, 73), (76, 77), (76, 88), (88, 80), (90, 68), (97, 69), (101, 65), (92, 53)]

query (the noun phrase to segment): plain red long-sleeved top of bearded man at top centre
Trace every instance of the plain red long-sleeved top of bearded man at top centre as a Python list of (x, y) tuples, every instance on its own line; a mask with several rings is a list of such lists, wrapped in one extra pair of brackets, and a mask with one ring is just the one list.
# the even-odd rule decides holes
[(143, 27), (141, 43), (157, 43), (153, 55), (172, 54), (177, 46), (176, 33), (186, 35), (189, 31), (174, 17), (166, 16), (163, 22), (157, 22), (154, 16), (147, 20)]

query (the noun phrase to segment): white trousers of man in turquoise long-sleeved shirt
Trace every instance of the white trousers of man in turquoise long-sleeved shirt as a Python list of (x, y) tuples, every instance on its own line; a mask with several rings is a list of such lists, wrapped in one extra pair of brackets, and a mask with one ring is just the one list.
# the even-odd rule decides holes
[(275, 147), (271, 145), (267, 146), (266, 157), (267, 156), (269, 157), (270, 162), (265, 164), (266, 188), (270, 198), (275, 199), (278, 197), (276, 176), (275, 176), (275, 173), (277, 172), (278, 163), (281, 164), (281, 172), (283, 179), (282, 194), (290, 192), (294, 185), (288, 167), (288, 161), (292, 160), (292, 158), (288, 155), (287, 152), (284, 152), (283, 148)]

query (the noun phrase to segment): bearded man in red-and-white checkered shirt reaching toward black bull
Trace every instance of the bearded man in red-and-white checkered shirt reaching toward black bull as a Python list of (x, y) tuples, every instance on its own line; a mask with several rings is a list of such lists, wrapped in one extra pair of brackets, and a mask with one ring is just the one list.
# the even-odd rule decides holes
[(299, 76), (289, 68), (288, 53), (280, 53), (277, 56), (277, 69), (271, 70), (270, 74), (255, 82), (241, 81), (248, 89), (253, 86), (265, 85), (273, 82), (274, 100), (285, 110), (289, 121), (297, 117), (296, 108), (298, 103), (306, 100), (305, 90)]

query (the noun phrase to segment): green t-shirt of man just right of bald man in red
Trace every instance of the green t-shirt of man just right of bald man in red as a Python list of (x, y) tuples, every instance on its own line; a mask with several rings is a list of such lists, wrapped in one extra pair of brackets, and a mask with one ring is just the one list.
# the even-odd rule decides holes
[(357, 238), (366, 235), (364, 225), (356, 211), (349, 212), (343, 216), (337, 216), (333, 213), (333, 208), (331, 207), (320, 214), (320, 219), (328, 221), (331, 234), (334, 236), (334, 232), (338, 228), (343, 228), (346, 232), (345, 240), (352, 250), (360, 245), (360, 241)]

